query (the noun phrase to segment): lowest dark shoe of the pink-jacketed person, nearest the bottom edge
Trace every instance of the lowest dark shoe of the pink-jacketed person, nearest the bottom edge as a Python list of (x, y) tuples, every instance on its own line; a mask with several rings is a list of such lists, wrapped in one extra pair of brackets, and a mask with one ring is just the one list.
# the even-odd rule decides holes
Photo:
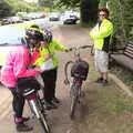
[(17, 131), (18, 132), (28, 132), (28, 131), (32, 131), (32, 130), (33, 130), (32, 126), (25, 125), (23, 122), (17, 123)]

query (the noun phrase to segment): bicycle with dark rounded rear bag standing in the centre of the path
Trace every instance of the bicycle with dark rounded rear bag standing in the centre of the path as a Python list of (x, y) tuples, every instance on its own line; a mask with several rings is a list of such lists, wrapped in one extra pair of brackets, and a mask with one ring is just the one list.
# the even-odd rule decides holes
[[(91, 45), (82, 45), (79, 48), (71, 48), (70, 51), (74, 51), (74, 61), (68, 61), (64, 65), (64, 83), (70, 85), (70, 99), (71, 99), (71, 109), (70, 109), (70, 119), (74, 119), (74, 113), (76, 105), (80, 103), (80, 99), (83, 94), (81, 88), (83, 81), (86, 80), (89, 73), (89, 63), (81, 59), (80, 49), (92, 48)], [(71, 68), (71, 79), (68, 78), (68, 68), (72, 64)]]

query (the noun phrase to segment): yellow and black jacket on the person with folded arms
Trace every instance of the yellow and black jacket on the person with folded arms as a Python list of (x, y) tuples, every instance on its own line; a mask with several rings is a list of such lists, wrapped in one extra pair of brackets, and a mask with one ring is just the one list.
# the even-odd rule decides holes
[(96, 24), (90, 32), (94, 40), (94, 49), (109, 51), (110, 37), (113, 33), (113, 24), (110, 20), (104, 19), (101, 24)]

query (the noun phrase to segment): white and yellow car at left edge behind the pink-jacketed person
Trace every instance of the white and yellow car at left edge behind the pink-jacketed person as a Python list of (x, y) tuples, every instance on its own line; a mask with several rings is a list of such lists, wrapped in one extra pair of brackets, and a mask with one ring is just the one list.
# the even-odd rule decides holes
[(10, 47), (19, 44), (24, 32), (24, 28), (18, 25), (12, 27), (9, 24), (0, 27), (0, 68), (6, 63)]

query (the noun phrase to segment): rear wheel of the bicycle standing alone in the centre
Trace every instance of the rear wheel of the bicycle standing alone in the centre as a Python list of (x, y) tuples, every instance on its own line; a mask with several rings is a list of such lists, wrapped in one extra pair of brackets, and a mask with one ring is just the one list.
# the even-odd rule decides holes
[(76, 110), (76, 105), (79, 102), (79, 92), (78, 92), (78, 86), (72, 85), (70, 90), (70, 98), (71, 98), (71, 109), (70, 109), (70, 119), (74, 119), (74, 113)]

